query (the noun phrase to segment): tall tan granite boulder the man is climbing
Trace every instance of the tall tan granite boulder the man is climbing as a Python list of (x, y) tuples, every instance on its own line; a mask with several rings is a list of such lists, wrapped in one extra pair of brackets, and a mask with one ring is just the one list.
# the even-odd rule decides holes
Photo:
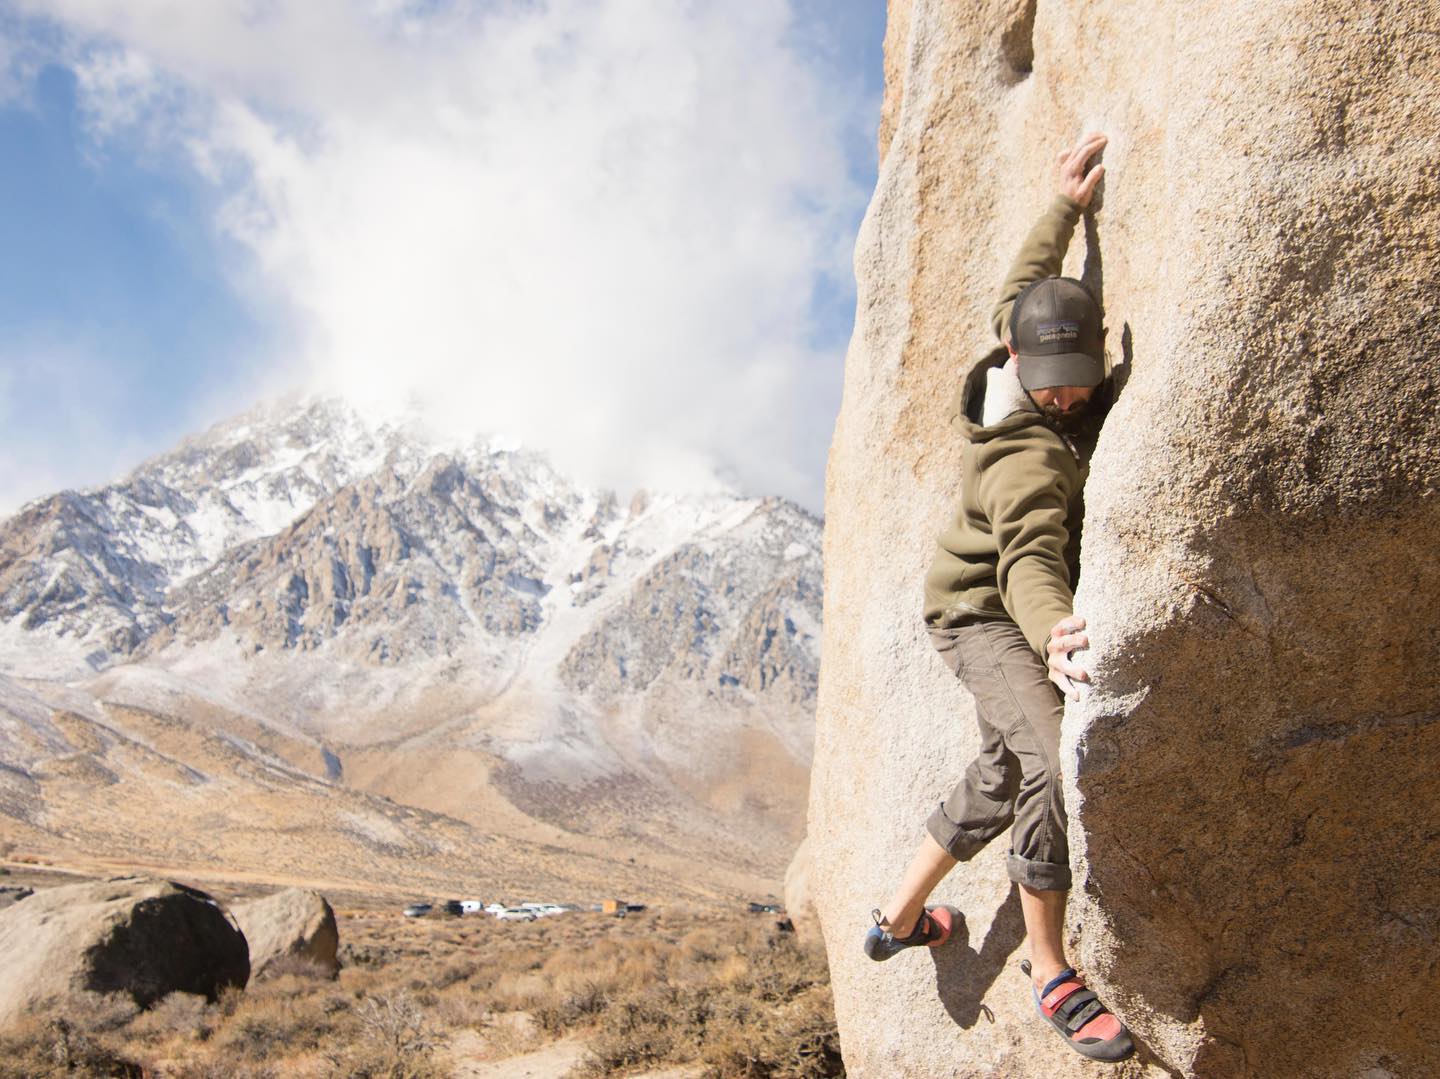
[(1103, 207), (1067, 272), (1102, 297), (1122, 393), (1063, 756), (1071, 958), (1145, 1043), (1109, 1073), (1434, 1075), (1440, 9), (890, 17), (809, 814), (850, 1073), (1090, 1073), (1032, 1016), (1004, 838), (936, 893), (966, 913), (953, 948), (880, 967), (860, 941), (976, 749), (919, 621), (956, 497), (946, 406), (1056, 151), (1099, 128)]

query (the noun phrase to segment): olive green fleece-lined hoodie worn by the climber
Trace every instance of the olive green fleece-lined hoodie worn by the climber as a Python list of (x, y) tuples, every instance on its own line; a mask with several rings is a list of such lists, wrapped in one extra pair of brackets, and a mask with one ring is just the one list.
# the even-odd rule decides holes
[[(1024, 287), (1060, 272), (1079, 216), (1080, 206), (1058, 196), (1035, 222), (992, 314), (998, 336), (1005, 336)], [(949, 627), (1009, 618), (1044, 654), (1050, 630), (1073, 612), (1084, 481), (1109, 380), (1097, 388), (1089, 429), (1079, 435), (1060, 434), (1030, 409), (982, 425), (989, 372), (1007, 359), (999, 347), (971, 364), (952, 406), (950, 422), (965, 441), (960, 501), (924, 578), (924, 621)]]

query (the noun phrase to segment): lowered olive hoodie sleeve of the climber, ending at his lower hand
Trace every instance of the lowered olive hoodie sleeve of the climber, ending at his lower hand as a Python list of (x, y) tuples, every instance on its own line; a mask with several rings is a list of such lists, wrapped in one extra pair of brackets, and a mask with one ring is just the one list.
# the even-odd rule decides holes
[(1066, 514), (1079, 474), (1050, 432), (1028, 428), (1024, 438), (1001, 441), (979, 471), (978, 490), (999, 555), (995, 583), (1030, 647), (1044, 655), (1056, 622), (1074, 612)]

